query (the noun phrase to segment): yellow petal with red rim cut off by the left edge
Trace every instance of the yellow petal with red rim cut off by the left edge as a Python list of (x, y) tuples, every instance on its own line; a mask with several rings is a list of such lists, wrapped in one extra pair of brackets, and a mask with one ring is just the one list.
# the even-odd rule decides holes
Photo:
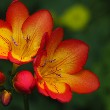
[(0, 20), (0, 58), (7, 59), (8, 52), (11, 50), (11, 27), (10, 25)]

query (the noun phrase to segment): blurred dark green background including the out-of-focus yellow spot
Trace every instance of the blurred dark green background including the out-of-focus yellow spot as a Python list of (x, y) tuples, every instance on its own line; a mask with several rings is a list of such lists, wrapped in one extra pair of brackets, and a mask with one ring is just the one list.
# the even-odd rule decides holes
[[(89, 46), (89, 57), (85, 68), (90, 69), (100, 79), (98, 91), (91, 94), (73, 93), (69, 103), (62, 104), (34, 90), (30, 99), (30, 110), (110, 110), (110, 5), (109, 0), (21, 0), (30, 14), (39, 9), (48, 9), (53, 15), (54, 28), (64, 28), (64, 39), (76, 38)], [(1, 0), (0, 18), (5, 13), (11, 0)], [(0, 61), (0, 71), (10, 77), (12, 64)], [(33, 71), (32, 64), (19, 67), (18, 70)], [(8, 87), (9, 83), (6, 84)], [(13, 93), (11, 104), (0, 110), (24, 110), (22, 94)]]

